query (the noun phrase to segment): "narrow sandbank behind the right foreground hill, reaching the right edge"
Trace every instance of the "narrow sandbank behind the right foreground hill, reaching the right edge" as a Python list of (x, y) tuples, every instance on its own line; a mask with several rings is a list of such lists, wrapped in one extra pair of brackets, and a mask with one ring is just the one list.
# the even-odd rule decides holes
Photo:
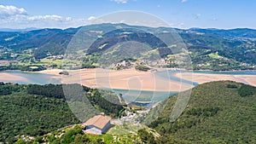
[[(177, 78), (191, 80), (191, 73), (176, 73)], [(204, 84), (212, 81), (230, 80), (243, 84), (256, 86), (256, 76), (254, 75), (225, 75), (225, 74), (208, 74), (208, 73), (193, 73), (192, 81), (198, 84)]]

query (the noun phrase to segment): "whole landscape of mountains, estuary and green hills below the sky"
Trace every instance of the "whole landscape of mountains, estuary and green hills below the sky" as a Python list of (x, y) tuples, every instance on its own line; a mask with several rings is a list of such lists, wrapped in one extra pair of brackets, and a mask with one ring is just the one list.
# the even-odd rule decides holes
[[(0, 32), (0, 143), (255, 143), (255, 37), (123, 23)], [(105, 114), (107, 134), (84, 133)]]

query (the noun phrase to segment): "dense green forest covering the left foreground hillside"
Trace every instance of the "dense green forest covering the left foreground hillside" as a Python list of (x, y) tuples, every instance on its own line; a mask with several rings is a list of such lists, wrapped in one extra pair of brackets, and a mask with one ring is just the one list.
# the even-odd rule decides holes
[[(66, 86), (75, 89), (80, 85)], [(118, 103), (117, 95), (108, 90), (82, 88), (84, 96), (88, 97), (92, 106), (112, 117), (119, 116), (123, 107)], [(0, 83), (0, 141), (12, 143), (16, 135), (44, 135), (71, 124), (81, 123), (68, 107), (68, 96), (65, 97), (63, 91), (65, 88), (63, 90), (62, 84)], [(112, 101), (108, 101), (107, 97), (111, 97)]]

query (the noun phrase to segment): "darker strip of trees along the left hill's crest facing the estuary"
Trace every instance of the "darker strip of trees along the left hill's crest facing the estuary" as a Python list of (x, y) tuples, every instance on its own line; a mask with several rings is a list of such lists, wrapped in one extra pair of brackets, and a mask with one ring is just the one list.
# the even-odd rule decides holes
[[(64, 87), (63, 87), (64, 86)], [(44, 95), (47, 97), (54, 97), (57, 99), (65, 99), (67, 101), (81, 101), (82, 98), (79, 97), (79, 88), (83, 87), (84, 96), (88, 98), (90, 104), (94, 107), (98, 107), (102, 112), (105, 112), (112, 117), (118, 117), (119, 112), (123, 109), (117, 95), (108, 90), (100, 89), (90, 89), (79, 84), (29, 84), (27, 86), (27, 93), (32, 95)], [(65, 95), (65, 89), (78, 89), (73, 90), (72, 95)], [(111, 96), (111, 101), (109, 101), (108, 96)], [(76, 100), (74, 100), (76, 99)]]

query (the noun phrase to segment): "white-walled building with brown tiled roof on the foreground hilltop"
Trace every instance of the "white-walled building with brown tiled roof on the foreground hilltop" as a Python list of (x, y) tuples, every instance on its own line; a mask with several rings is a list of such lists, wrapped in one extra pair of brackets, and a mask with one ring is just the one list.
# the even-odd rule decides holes
[(104, 114), (96, 115), (82, 124), (82, 128), (87, 134), (102, 135), (112, 126), (110, 120), (111, 118)]

